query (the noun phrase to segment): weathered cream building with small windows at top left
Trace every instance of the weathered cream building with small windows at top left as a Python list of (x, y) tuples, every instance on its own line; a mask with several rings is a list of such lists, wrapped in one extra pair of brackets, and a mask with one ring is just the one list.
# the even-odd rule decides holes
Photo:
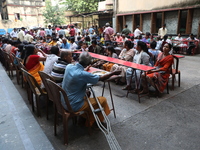
[(45, 0), (1, 0), (0, 28), (43, 27)]

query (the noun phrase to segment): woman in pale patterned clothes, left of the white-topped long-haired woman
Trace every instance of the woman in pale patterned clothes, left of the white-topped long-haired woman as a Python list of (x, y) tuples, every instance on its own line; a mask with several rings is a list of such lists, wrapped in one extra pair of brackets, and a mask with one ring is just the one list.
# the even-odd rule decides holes
[[(121, 51), (120, 55), (119, 55), (119, 59), (125, 60), (125, 61), (132, 61), (133, 60), (133, 56), (135, 55), (135, 51), (133, 48), (133, 43), (131, 41), (126, 41), (124, 43), (124, 49)], [(114, 64), (111, 68), (111, 72), (115, 71), (115, 70), (120, 70), (121, 71), (121, 80), (117, 81), (117, 82), (125, 82), (125, 75), (126, 75), (126, 69), (127, 67), (125, 66), (120, 66), (117, 64)]]

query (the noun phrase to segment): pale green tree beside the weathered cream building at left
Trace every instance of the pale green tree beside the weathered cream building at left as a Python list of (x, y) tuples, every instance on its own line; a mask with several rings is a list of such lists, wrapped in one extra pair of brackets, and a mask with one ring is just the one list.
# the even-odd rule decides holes
[(65, 22), (65, 9), (60, 8), (58, 5), (51, 6), (50, 1), (46, 1), (46, 9), (43, 12), (45, 23), (52, 25), (62, 25)]

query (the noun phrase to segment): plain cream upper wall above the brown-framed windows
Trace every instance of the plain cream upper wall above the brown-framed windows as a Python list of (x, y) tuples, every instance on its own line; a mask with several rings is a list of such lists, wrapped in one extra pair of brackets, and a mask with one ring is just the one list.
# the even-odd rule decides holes
[(199, 0), (118, 0), (117, 13), (165, 9), (166, 7), (181, 6), (183, 3), (195, 3)]

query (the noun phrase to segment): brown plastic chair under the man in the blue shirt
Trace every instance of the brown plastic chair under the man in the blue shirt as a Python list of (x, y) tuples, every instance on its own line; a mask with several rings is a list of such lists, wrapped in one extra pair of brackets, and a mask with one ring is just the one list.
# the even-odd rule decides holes
[[(47, 79), (47, 85), (49, 86), (47, 92), (51, 92), (53, 95), (53, 101), (56, 105), (55, 107), (55, 118), (54, 118), (54, 135), (56, 136), (56, 125), (57, 125), (57, 114), (60, 114), (63, 117), (63, 128), (64, 128), (64, 144), (68, 144), (68, 119), (70, 117), (77, 117), (82, 114), (86, 114), (87, 120), (89, 121), (89, 116), (86, 111), (78, 111), (74, 112), (71, 108), (71, 105), (68, 101), (68, 97), (66, 92), (55, 82), (51, 81), (50, 79)], [(65, 100), (65, 104), (67, 106), (67, 110), (63, 107), (61, 104), (61, 95), (63, 96)]]

